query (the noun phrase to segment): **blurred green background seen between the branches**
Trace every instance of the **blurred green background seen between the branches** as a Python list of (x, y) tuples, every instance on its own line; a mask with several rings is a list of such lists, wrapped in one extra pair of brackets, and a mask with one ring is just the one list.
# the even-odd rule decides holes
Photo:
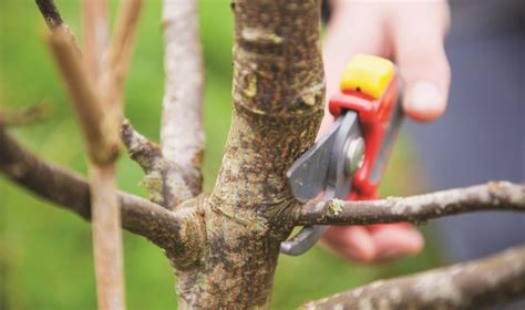
[[(81, 39), (80, 1), (55, 2)], [(199, 2), (206, 66), (204, 175), (209, 190), (220, 164), (231, 110), (233, 13), (229, 1)], [(161, 9), (161, 0), (145, 4), (125, 103), (125, 114), (134, 126), (155, 141), (164, 85)], [(42, 100), (54, 107), (50, 120), (11, 133), (42, 157), (85, 174), (82, 141), (45, 46), (48, 30), (34, 1), (1, 0), (0, 23), (1, 108), (12, 111)], [(383, 182), (384, 195), (410, 194), (413, 184), (421, 183), (409, 144), (401, 138), (399, 145)], [(141, 169), (121, 156), (120, 187), (145, 196), (138, 186), (141, 178)], [(0, 309), (95, 309), (90, 226), (85, 221), (0, 177)], [(175, 277), (163, 252), (127, 232), (124, 248), (128, 309), (175, 309)], [(440, 264), (432, 241), (421, 255), (383, 266), (349, 265), (316, 248), (299, 258), (280, 258), (272, 306), (290, 309), (374, 279)]]

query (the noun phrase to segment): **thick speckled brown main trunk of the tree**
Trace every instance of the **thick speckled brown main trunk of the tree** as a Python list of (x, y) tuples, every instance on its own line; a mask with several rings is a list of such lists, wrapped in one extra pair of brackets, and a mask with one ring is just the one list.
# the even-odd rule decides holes
[(234, 113), (204, 200), (200, 267), (178, 272), (183, 308), (266, 308), (294, 198), (285, 172), (322, 115), (319, 1), (235, 1)]

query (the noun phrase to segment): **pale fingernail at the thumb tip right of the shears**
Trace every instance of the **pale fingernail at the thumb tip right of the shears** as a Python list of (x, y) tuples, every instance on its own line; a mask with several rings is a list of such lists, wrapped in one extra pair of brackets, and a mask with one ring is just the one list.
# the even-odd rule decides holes
[(431, 113), (441, 110), (442, 94), (432, 82), (418, 82), (406, 94), (405, 107), (411, 111)]

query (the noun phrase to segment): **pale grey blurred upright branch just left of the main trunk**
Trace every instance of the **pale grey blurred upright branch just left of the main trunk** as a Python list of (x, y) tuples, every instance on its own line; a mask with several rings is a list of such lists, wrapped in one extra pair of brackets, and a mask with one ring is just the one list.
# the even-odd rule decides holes
[(193, 195), (202, 190), (203, 59), (197, 1), (164, 0), (164, 71), (162, 152), (183, 172)]

